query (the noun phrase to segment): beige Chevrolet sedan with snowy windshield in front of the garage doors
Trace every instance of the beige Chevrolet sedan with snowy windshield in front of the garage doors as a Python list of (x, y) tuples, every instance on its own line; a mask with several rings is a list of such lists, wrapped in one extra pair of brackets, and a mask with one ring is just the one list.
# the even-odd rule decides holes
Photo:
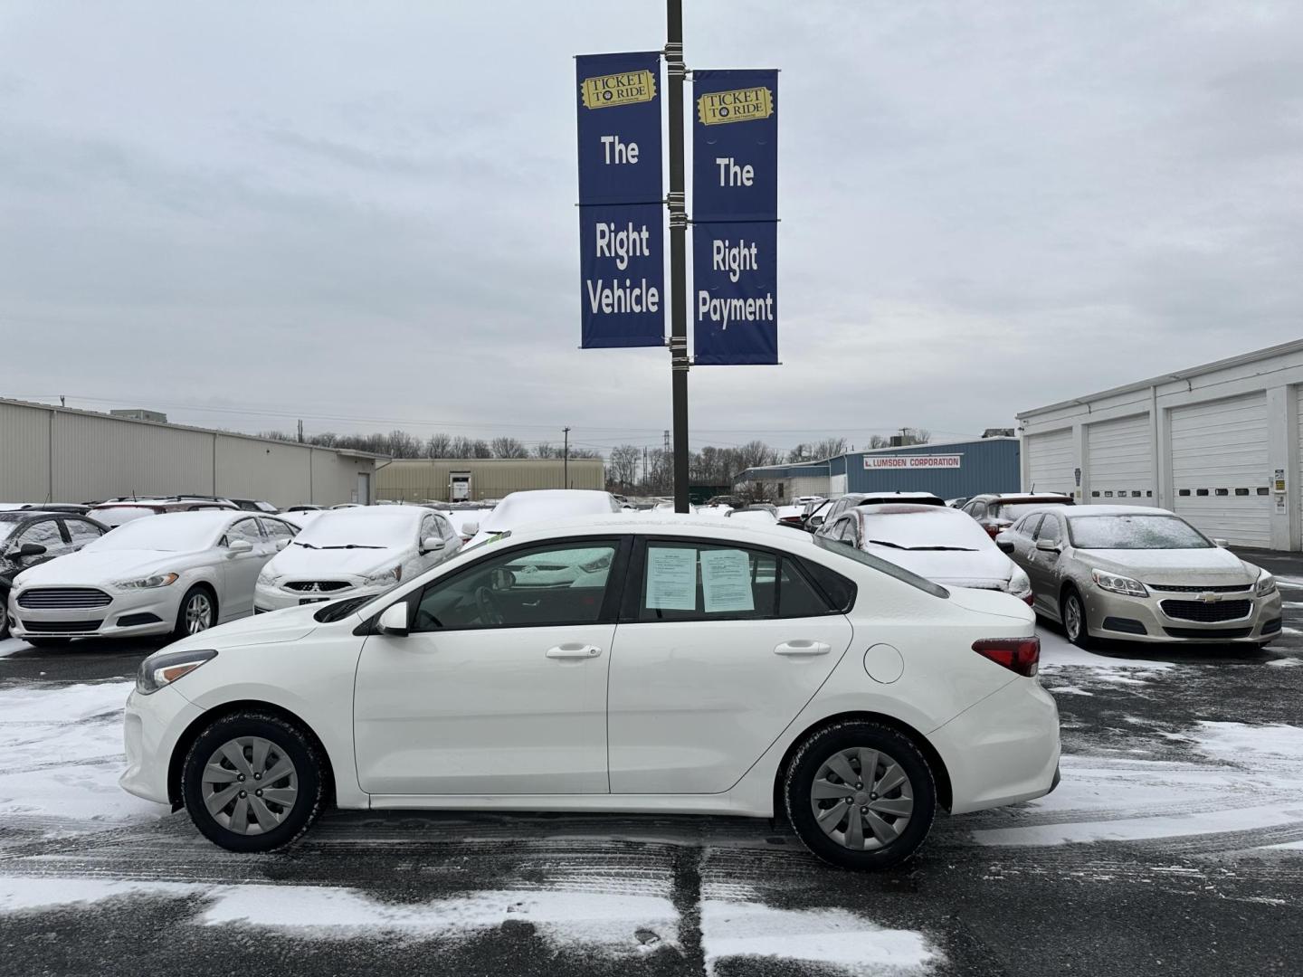
[(1281, 633), (1270, 573), (1181, 516), (1139, 505), (1054, 505), (997, 543), (1032, 582), (1037, 614), (1093, 638), (1265, 645)]

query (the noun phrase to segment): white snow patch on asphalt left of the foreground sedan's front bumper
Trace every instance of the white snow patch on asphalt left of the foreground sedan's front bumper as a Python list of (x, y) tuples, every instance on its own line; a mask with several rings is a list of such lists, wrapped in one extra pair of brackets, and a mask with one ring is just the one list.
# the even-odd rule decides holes
[(130, 683), (0, 690), (0, 818), (60, 835), (154, 821), (117, 786)]

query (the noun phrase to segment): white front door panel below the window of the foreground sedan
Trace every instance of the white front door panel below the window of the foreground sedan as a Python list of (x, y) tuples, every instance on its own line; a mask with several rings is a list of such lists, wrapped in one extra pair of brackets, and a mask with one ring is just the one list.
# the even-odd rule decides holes
[[(614, 624), (373, 636), (357, 670), (370, 793), (606, 793)], [(592, 647), (582, 657), (554, 649)]]

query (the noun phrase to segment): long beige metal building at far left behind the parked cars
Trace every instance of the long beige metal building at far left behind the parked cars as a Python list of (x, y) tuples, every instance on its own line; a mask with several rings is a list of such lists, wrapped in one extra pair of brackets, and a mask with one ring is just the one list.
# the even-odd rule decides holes
[(0, 399), (0, 502), (197, 492), (275, 505), (375, 499), (360, 451)]

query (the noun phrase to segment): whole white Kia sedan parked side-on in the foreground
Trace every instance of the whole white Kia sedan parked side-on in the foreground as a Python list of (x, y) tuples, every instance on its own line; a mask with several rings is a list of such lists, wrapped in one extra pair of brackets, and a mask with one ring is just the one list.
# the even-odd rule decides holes
[[(554, 588), (521, 565), (609, 568)], [(585, 586), (584, 584), (589, 584)], [(1031, 610), (691, 516), (532, 526), (147, 658), (122, 786), (233, 851), (322, 808), (740, 814), (885, 868), (1058, 782)]]

